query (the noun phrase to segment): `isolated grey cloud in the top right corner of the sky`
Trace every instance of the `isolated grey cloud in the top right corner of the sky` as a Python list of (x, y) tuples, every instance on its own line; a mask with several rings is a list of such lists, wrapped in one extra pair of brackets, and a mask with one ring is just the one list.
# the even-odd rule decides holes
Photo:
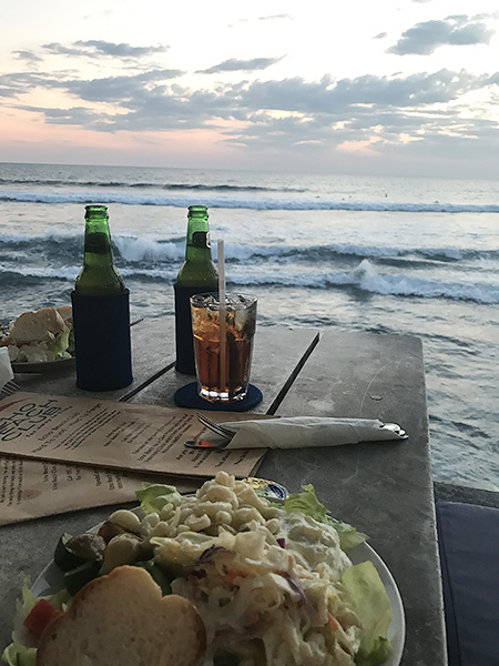
[(444, 46), (488, 44), (495, 34), (486, 23), (487, 16), (451, 16), (441, 21), (417, 23), (406, 30), (387, 53), (429, 56)]

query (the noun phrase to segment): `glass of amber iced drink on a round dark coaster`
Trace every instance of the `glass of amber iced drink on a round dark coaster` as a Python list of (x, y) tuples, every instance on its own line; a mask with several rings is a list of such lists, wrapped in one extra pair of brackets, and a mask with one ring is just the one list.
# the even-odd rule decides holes
[[(222, 317), (221, 317), (222, 312)], [(243, 400), (249, 385), (256, 296), (191, 296), (197, 393), (211, 402)]]

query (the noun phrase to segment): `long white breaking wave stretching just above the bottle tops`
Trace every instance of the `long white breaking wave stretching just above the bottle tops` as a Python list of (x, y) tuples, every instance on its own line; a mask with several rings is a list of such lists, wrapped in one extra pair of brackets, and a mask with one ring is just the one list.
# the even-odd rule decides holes
[[(225, 185), (223, 185), (225, 186)], [(213, 191), (207, 188), (206, 192)], [(407, 212), (407, 213), (498, 213), (499, 204), (471, 203), (432, 203), (398, 201), (353, 201), (338, 199), (310, 199), (308, 196), (224, 196), (222, 194), (194, 192), (189, 196), (182, 194), (135, 193), (135, 192), (33, 192), (4, 190), (0, 192), (0, 201), (22, 203), (121, 203), (123, 205), (161, 205), (186, 208), (203, 204), (213, 209), (251, 209), (251, 210), (286, 210), (286, 211), (358, 211), (358, 212)]]

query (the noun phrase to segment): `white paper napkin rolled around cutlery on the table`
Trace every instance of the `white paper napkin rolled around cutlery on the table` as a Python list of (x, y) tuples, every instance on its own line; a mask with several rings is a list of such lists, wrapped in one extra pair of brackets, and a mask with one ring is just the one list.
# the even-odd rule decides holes
[[(230, 448), (305, 448), (308, 446), (339, 446), (357, 442), (405, 440), (407, 435), (371, 418), (329, 418), (292, 416), (262, 421), (233, 421), (223, 424), (235, 431), (224, 447)], [(391, 425), (391, 424), (390, 424)], [(398, 426), (395, 426), (397, 428)], [(212, 444), (224, 442), (206, 431), (203, 438)]]

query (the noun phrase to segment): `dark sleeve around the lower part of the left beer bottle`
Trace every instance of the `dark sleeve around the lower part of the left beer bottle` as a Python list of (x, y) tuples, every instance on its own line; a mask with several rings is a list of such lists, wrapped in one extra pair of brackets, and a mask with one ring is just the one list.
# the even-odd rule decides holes
[(113, 391), (132, 383), (130, 292), (112, 296), (71, 293), (77, 385)]

